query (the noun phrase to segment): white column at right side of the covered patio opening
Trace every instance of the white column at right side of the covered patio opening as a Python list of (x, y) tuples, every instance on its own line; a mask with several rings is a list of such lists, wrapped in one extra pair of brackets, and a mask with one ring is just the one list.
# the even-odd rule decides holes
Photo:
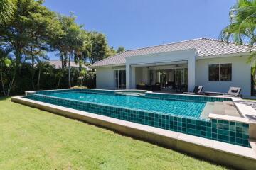
[(196, 86), (196, 56), (188, 59), (188, 91), (193, 91)]

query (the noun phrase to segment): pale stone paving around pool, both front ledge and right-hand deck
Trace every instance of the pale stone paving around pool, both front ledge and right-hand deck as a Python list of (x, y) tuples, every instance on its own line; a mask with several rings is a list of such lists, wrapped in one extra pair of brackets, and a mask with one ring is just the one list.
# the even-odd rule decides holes
[(21, 103), (34, 108), (50, 111), (68, 118), (74, 118), (99, 125), (101, 127), (116, 130), (124, 135), (137, 137), (139, 139), (156, 143), (164, 147), (176, 149), (181, 152), (196, 155), (203, 159), (224, 164), (235, 169), (255, 169), (256, 167), (256, 111), (250, 106), (241, 103), (241, 98), (233, 98), (233, 103), (240, 116), (222, 115), (210, 113), (208, 118), (220, 120), (233, 120), (250, 124), (250, 145), (241, 147), (225, 142), (209, 140), (203, 137), (186, 135), (180, 132), (154, 128), (148, 125), (141, 125), (125, 120), (110, 118), (104, 115), (97, 115), (85, 111), (78, 111), (72, 108), (65, 108), (40, 101), (33, 101), (22, 96), (12, 97), (11, 101)]

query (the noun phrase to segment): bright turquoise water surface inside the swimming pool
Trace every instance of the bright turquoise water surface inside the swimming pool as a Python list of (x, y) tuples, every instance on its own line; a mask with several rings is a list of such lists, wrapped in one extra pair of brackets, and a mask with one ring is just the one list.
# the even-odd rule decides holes
[(142, 111), (153, 111), (171, 115), (184, 115), (198, 118), (206, 102), (162, 100), (145, 98), (144, 96), (123, 96), (114, 94), (90, 94), (81, 92), (45, 94), (58, 98), (75, 99), (92, 103), (101, 103), (111, 106), (121, 106)]

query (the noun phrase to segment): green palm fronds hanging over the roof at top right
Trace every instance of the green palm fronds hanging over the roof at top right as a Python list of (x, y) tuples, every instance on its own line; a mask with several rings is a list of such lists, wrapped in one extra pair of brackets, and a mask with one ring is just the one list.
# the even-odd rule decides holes
[(223, 42), (232, 40), (240, 45), (252, 47), (256, 43), (256, 0), (238, 0), (230, 8), (230, 25), (225, 27), (220, 38)]

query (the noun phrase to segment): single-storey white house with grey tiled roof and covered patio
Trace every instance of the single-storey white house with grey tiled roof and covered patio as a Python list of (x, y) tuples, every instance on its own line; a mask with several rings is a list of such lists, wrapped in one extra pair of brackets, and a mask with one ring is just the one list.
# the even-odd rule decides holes
[(155, 91), (254, 91), (250, 48), (211, 38), (127, 50), (90, 65), (97, 69), (97, 89), (149, 89)]

